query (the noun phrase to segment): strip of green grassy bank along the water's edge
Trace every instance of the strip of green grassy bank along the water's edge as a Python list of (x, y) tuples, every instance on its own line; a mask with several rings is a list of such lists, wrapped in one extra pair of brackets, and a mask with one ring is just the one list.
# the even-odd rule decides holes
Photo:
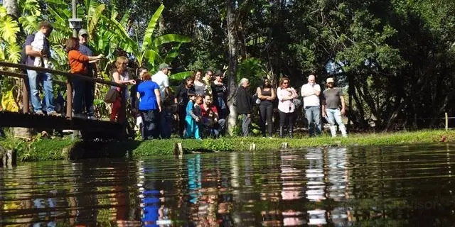
[(0, 146), (14, 149), (20, 161), (65, 160), (87, 157), (146, 157), (151, 155), (173, 154), (173, 144), (182, 143), (186, 153), (193, 151), (234, 152), (249, 150), (254, 143), (256, 150), (277, 150), (282, 143), (289, 148), (306, 148), (320, 146), (358, 146), (358, 145), (402, 145), (415, 143), (449, 143), (455, 142), (455, 131), (416, 131), (400, 133), (351, 134), (348, 138), (219, 138), (216, 140), (169, 140), (124, 141), (124, 142), (85, 142), (69, 138), (40, 138), (23, 141), (18, 138), (0, 140)]

